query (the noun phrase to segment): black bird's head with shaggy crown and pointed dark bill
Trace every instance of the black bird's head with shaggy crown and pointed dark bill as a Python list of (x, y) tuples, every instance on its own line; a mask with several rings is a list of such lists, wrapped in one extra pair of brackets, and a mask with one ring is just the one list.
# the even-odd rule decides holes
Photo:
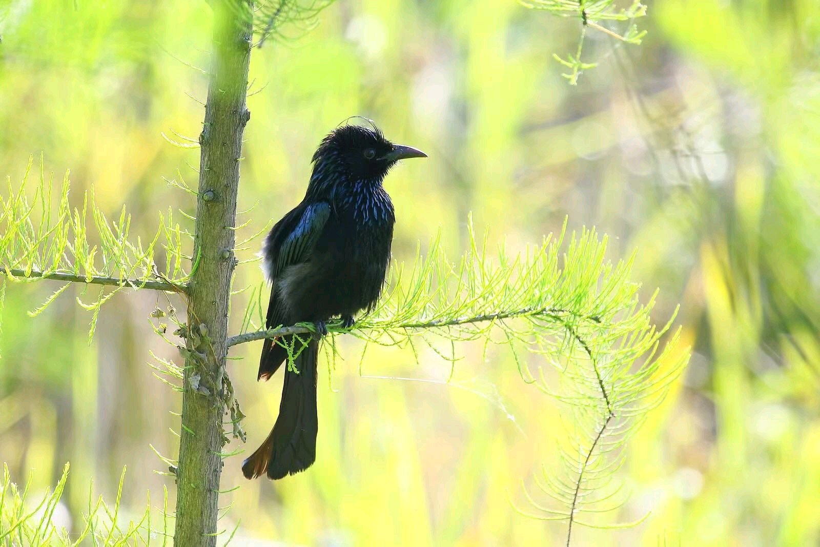
[(427, 154), (412, 146), (391, 143), (375, 125), (343, 125), (330, 132), (313, 154), (314, 176), (325, 171), (343, 175), (352, 183), (380, 184), (396, 162), (408, 157)]

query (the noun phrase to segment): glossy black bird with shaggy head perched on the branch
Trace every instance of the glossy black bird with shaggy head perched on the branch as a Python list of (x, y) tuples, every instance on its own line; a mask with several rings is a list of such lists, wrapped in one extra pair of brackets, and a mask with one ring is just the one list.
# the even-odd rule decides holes
[[(271, 435), (244, 461), (248, 479), (298, 473), (316, 459), (317, 357), (326, 321), (369, 310), (379, 298), (390, 258), (395, 221), (393, 203), (381, 183), (396, 162), (426, 157), (393, 144), (380, 130), (345, 125), (328, 134), (313, 154), (307, 193), (267, 235), (262, 269), (271, 282), (266, 326), (312, 321), (317, 335), (307, 346), (284, 336), (298, 372), (285, 367), (279, 417)], [(288, 350), (265, 340), (259, 376), (267, 380), (288, 358)]]

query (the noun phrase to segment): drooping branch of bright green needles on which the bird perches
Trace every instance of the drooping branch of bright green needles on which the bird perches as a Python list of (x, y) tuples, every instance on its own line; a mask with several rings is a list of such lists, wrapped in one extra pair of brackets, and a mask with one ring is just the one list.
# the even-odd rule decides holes
[[(616, 480), (622, 449), (688, 359), (688, 351), (677, 348), (677, 333), (661, 347), (672, 319), (659, 329), (653, 325), (655, 295), (640, 303), (640, 285), (629, 279), (631, 259), (608, 261), (606, 238), (599, 239), (595, 230), (573, 233), (565, 243), (565, 228), (511, 256), (503, 245), (488, 250), (487, 235), (476, 238), (469, 226), (470, 248), (457, 262), (436, 238), (426, 257), (417, 254), (412, 268), (394, 264), (384, 297), (348, 331), (365, 342), (362, 360), (369, 344), (410, 348), (416, 355), (421, 344), (451, 362), (449, 382), (460, 359), (458, 344), (478, 341), (485, 355), (491, 344), (507, 348), (523, 381), (563, 403), (566, 430), (558, 438), (558, 468), (544, 467), (535, 477), (550, 504), (525, 488), (535, 513), (519, 513), (567, 522), (567, 544), (573, 524), (635, 524), (602, 525), (585, 515), (614, 511), (628, 498)], [(262, 303), (252, 302), (245, 317), (254, 314), (262, 321), (263, 312)], [(231, 340), (311, 328), (260, 330)], [(343, 331), (330, 326), (334, 336)], [(335, 358), (336, 344), (327, 348)], [(288, 349), (294, 355), (302, 347)], [(535, 358), (535, 374), (526, 353)]]

